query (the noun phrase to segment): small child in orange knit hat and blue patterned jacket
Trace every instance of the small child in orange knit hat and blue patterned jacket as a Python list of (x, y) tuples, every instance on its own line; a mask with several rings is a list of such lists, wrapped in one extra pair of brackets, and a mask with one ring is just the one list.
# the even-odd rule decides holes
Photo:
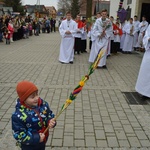
[(16, 91), (19, 98), (12, 114), (13, 136), (22, 150), (45, 150), (49, 132), (44, 131), (55, 127), (54, 114), (32, 82), (19, 82)]

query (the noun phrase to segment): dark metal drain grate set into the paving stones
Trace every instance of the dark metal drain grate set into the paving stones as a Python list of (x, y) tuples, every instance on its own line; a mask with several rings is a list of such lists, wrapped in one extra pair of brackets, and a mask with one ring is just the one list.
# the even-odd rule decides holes
[(147, 101), (141, 99), (137, 92), (122, 92), (130, 105), (148, 105)]

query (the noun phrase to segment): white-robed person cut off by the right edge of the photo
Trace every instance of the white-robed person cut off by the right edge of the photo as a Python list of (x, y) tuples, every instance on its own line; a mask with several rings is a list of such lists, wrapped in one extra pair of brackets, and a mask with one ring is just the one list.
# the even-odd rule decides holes
[(141, 63), (135, 89), (138, 93), (150, 98), (150, 25), (143, 38), (145, 54)]

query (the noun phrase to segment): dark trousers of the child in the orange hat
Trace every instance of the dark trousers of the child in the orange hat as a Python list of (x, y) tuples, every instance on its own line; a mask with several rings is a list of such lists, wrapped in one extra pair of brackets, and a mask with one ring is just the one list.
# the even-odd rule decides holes
[(21, 145), (22, 150), (45, 150), (45, 143), (39, 143), (37, 145)]

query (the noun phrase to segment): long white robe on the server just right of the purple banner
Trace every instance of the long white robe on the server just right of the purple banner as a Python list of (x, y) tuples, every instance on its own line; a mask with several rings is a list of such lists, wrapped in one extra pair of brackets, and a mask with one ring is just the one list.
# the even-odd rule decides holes
[(130, 35), (130, 30), (133, 27), (133, 34), (134, 34), (134, 26), (131, 23), (128, 23), (127, 25), (125, 25), (125, 32), (126, 32), (126, 36), (124, 39), (124, 44), (123, 44), (123, 49), (122, 51), (125, 52), (131, 52), (133, 50), (133, 34)]

